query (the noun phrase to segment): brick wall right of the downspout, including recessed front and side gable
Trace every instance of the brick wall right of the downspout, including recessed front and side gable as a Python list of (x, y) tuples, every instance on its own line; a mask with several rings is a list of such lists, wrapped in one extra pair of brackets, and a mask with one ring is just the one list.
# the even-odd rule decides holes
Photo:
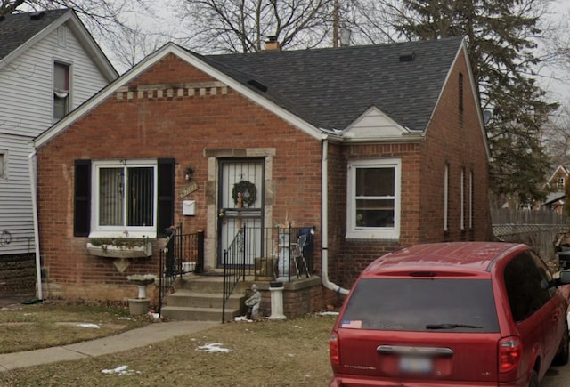
[[(463, 113), (459, 111), (459, 73), (463, 74)], [(330, 279), (350, 288), (374, 259), (403, 246), (446, 240), (488, 240), (491, 218), (484, 134), (478, 104), (463, 56), (449, 78), (423, 141), (330, 148)], [(346, 163), (350, 159), (402, 159), (402, 222), (397, 241), (347, 239)], [(444, 231), (444, 168), (449, 165), (449, 230)], [(465, 226), (460, 230), (460, 171), (465, 169)], [(473, 229), (468, 228), (468, 176), (473, 172)], [(341, 198), (342, 197), (342, 198)], [(343, 199), (344, 198), (344, 199)], [(338, 207), (336, 204), (338, 203)]]

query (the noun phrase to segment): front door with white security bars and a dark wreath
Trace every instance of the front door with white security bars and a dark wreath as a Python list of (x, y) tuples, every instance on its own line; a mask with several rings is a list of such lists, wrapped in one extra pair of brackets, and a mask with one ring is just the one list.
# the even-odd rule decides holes
[(247, 226), (246, 264), (253, 265), (261, 251), (264, 208), (264, 160), (220, 160), (218, 190), (218, 266), (238, 230)]

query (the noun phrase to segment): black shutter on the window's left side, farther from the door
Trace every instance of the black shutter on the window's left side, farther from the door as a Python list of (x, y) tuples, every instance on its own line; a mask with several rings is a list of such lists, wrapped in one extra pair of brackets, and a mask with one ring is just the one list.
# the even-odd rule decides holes
[(91, 226), (91, 160), (75, 160), (73, 235), (88, 237)]

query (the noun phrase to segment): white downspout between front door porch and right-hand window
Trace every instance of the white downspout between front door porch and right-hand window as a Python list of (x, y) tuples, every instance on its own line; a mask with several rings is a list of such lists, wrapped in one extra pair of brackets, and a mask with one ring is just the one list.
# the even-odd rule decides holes
[(325, 138), (322, 141), (322, 285), (337, 292), (338, 294), (348, 294), (348, 290), (333, 284), (329, 280), (329, 141)]

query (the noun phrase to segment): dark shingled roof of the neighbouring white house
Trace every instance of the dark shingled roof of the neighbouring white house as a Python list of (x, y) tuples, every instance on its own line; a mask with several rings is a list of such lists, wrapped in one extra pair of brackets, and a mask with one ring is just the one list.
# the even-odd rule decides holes
[(0, 60), (36, 36), (69, 9), (12, 13), (0, 16)]

